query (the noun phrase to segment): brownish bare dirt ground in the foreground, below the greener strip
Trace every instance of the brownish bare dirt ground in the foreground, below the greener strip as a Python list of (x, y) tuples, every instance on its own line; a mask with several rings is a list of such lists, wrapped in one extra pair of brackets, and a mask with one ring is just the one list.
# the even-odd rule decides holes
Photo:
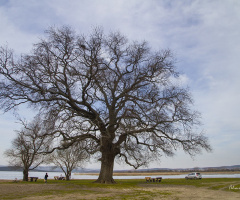
[[(64, 194), (60, 192), (63, 189), (65, 190)], [(44, 195), (42, 193), (44, 193)], [(20, 198), (24, 200), (38, 200), (38, 199), (238, 200), (240, 199), (240, 193), (224, 190), (211, 190), (202, 187), (196, 188), (194, 186), (175, 186), (175, 185), (169, 186), (150, 184), (139, 185), (139, 187), (134, 189), (84, 188), (80, 185), (79, 186), (75, 185), (74, 188), (69, 188), (68, 193), (66, 192), (66, 188), (63, 185), (58, 184), (34, 184), (34, 183), (0, 184), (0, 199), (20, 199)]]

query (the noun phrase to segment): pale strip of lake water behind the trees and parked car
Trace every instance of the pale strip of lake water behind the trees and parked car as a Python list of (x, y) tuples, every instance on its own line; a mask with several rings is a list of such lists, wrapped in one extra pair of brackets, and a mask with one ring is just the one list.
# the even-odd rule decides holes
[[(43, 179), (46, 172), (29, 172), (29, 176), (38, 177), (39, 179)], [(48, 178), (53, 179), (54, 176), (64, 175), (61, 172), (48, 172)], [(204, 174), (201, 173), (203, 178), (240, 178), (240, 174)], [(161, 176), (163, 179), (171, 179), (171, 178), (185, 178), (186, 174), (182, 175), (154, 175), (152, 177)], [(145, 179), (146, 176), (113, 176), (114, 179)], [(14, 179), (22, 179), (23, 173), (19, 171), (0, 171), (0, 179), (5, 180), (14, 180)], [(72, 179), (97, 179), (96, 175), (77, 175), (72, 173)]]

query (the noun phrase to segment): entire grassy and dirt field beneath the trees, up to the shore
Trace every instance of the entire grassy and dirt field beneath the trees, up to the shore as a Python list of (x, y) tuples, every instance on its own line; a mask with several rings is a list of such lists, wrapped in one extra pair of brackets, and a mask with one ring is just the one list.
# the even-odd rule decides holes
[(163, 179), (161, 183), (145, 180), (117, 180), (117, 184), (97, 184), (93, 180), (37, 182), (0, 182), (0, 199), (240, 199), (240, 179), (202, 180)]

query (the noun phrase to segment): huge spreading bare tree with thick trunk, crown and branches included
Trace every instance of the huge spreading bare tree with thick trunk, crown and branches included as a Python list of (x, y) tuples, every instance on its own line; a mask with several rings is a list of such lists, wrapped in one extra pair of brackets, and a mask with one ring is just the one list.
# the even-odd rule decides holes
[(191, 155), (210, 150), (188, 89), (176, 84), (170, 50), (152, 51), (145, 41), (98, 28), (89, 36), (69, 27), (46, 34), (19, 60), (0, 49), (1, 106), (40, 107), (66, 144), (93, 142), (97, 182), (114, 182), (115, 158), (138, 168), (178, 148)]

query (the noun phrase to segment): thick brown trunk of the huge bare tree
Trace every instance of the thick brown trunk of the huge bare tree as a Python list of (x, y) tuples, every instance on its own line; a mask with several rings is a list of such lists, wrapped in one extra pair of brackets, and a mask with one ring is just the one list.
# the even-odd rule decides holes
[(102, 151), (101, 158), (101, 170), (98, 179), (95, 183), (116, 183), (113, 180), (113, 165), (114, 165), (115, 154), (109, 151)]

